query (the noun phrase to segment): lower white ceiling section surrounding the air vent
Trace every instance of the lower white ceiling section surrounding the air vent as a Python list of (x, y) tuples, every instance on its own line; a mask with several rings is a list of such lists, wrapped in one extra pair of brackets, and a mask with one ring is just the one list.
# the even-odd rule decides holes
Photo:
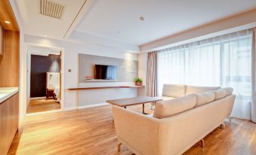
[(63, 38), (69, 26), (75, 20), (85, 0), (54, 0), (66, 5), (60, 20), (46, 17), (40, 13), (40, 0), (16, 0), (25, 34), (49, 38)]

